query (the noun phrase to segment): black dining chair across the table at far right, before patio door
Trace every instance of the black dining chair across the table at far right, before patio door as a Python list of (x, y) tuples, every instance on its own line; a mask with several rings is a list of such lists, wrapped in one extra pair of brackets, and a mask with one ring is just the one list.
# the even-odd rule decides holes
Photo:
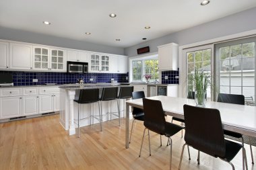
[[(219, 93), (217, 101), (222, 102), (222, 103), (232, 103), (232, 104), (245, 105), (245, 96), (244, 95), (236, 95), (236, 94)], [(237, 133), (237, 132), (232, 132), (232, 131), (229, 131), (229, 130), (224, 130), (224, 134), (227, 135), (226, 138), (229, 138), (228, 136), (231, 136), (233, 138), (241, 138), (242, 139), (242, 144), (244, 145), (243, 134), (240, 134), (240, 133)], [(251, 138), (250, 138), (250, 136), (249, 136), (249, 144), (250, 144), (250, 150), (251, 150), (251, 161), (252, 161), (252, 164), (254, 164), (253, 150), (251, 148)]]

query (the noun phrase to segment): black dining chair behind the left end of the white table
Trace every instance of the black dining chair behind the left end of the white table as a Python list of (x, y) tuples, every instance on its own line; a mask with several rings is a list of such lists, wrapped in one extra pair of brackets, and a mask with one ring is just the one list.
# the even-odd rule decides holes
[[(132, 99), (141, 99), (141, 98), (145, 98), (144, 91), (133, 91)], [(135, 120), (144, 121), (144, 111), (142, 109), (133, 107), (132, 114), (133, 114), (133, 123), (135, 122)], [(131, 124), (131, 134), (133, 132), (133, 123)], [(130, 134), (129, 143), (131, 143), (131, 134)]]

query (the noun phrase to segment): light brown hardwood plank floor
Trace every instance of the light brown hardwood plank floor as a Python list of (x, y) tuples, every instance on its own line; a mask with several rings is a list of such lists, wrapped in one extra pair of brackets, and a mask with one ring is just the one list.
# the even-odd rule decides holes
[[(139, 148), (143, 123), (134, 126), (131, 144), (125, 149), (125, 121), (121, 127), (117, 120), (100, 126), (81, 128), (81, 137), (69, 136), (59, 124), (59, 115), (44, 116), (0, 124), (0, 169), (169, 169), (170, 146), (163, 136), (150, 133), (152, 156), (148, 151), (148, 136), (144, 140), (141, 157)], [(130, 122), (131, 123), (131, 122)], [(130, 126), (131, 127), (131, 126)], [(181, 132), (172, 137), (172, 169), (178, 169), (184, 144)], [(249, 169), (249, 146), (246, 145)], [(253, 147), (256, 155), (256, 149)], [(197, 165), (197, 151), (191, 148), (191, 161), (185, 150), (181, 169), (231, 169), (228, 163), (201, 154)], [(255, 157), (256, 160), (256, 157)], [(241, 152), (232, 161), (236, 169), (242, 169)]]

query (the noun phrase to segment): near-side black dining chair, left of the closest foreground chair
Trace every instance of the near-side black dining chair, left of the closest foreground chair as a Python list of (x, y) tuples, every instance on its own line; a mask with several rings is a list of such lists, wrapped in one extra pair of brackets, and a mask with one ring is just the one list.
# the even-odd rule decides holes
[[(143, 139), (145, 136), (145, 131), (148, 129), (148, 141), (150, 148), (150, 130), (156, 132), (157, 134), (164, 135), (168, 138), (170, 142), (170, 169), (172, 169), (172, 138), (174, 134), (177, 134), (184, 127), (177, 124), (172, 124), (166, 122), (164, 118), (164, 110), (162, 109), (162, 103), (158, 100), (143, 98), (143, 110), (144, 110), (144, 132), (141, 141), (141, 148), (143, 145)], [(139, 151), (139, 157), (141, 155), (141, 148)], [(150, 148), (151, 155), (151, 148)]]

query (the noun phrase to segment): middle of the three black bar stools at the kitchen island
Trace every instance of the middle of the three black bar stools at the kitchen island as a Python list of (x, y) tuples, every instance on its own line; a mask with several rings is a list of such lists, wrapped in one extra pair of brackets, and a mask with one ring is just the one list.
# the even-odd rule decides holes
[[(102, 113), (102, 101), (110, 101), (110, 113), (106, 113), (107, 116), (108, 114), (110, 114), (110, 116), (113, 114), (117, 117), (119, 117), (119, 126), (120, 126), (120, 114), (119, 114), (119, 100), (117, 98), (117, 92), (118, 92), (118, 87), (104, 87), (102, 89), (102, 95), (100, 97), (100, 109), (101, 109), (101, 113)], [(112, 101), (116, 100), (117, 101), (117, 112), (112, 112)], [(115, 114), (115, 113), (118, 113)], [(102, 116), (101, 116), (102, 117)], [(110, 117), (111, 118), (111, 117)]]

